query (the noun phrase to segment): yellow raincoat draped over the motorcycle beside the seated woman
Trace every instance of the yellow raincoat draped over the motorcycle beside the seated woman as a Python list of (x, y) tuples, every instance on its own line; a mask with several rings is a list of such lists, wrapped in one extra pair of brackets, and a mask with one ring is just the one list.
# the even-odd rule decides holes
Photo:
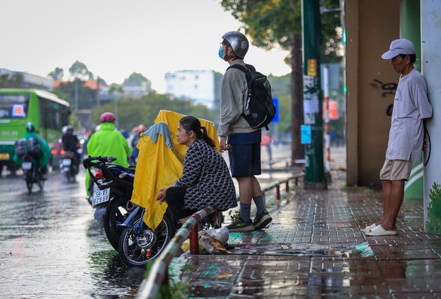
[[(174, 184), (182, 176), (183, 160), (188, 148), (178, 144), (176, 132), (179, 120), (184, 116), (174, 111), (159, 111), (154, 126), (141, 133), (141, 139), (136, 146), (139, 148), (139, 156), (132, 202), (145, 208), (143, 221), (152, 230), (156, 230), (167, 210), (167, 203), (160, 204), (156, 201), (159, 189)], [(214, 124), (208, 120), (199, 120), (218, 149), (219, 141)], [(168, 131), (164, 129), (165, 125), (168, 126)]]

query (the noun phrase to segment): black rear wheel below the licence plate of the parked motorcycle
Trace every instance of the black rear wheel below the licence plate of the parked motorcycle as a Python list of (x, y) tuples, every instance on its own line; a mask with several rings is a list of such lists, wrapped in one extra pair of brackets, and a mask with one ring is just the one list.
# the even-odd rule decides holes
[(127, 213), (129, 212), (127, 209), (128, 201), (130, 201), (130, 198), (127, 197), (116, 197), (112, 199), (103, 217), (105, 235), (110, 245), (112, 245), (116, 251), (119, 250), (119, 238), (123, 232), (123, 229), (119, 228), (116, 224), (123, 223), (127, 217)]

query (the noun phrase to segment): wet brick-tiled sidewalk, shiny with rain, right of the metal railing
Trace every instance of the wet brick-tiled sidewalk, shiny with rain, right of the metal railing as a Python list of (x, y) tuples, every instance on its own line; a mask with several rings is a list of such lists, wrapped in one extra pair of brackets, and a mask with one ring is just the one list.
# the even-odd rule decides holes
[(229, 254), (185, 252), (174, 258), (172, 293), (183, 298), (441, 297), (441, 235), (424, 232), (423, 202), (404, 201), (398, 235), (365, 236), (361, 229), (381, 219), (381, 192), (345, 188), (345, 171), (336, 159), (328, 190), (296, 188), (271, 201), (269, 228), (230, 233)]

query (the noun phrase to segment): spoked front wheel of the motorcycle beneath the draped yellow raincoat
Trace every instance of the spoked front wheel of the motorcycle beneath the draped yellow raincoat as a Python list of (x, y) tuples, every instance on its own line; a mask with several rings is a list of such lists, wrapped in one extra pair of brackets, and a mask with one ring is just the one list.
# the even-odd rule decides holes
[(143, 220), (136, 219), (134, 225), (123, 230), (119, 239), (118, 254), (125, 265), (144, 267), (163, 252), (176, 232), (172, 217), (167, 213), (154, 232), (143, 222), (141, 232), (136, 234), (140, 221)]

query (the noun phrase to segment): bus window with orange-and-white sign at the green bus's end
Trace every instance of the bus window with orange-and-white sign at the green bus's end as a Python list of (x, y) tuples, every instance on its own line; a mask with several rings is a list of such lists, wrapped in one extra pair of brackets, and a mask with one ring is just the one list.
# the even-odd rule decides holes
[(28, 94), (0, 94), (0, 119), (25, 118), (28, 104)]

